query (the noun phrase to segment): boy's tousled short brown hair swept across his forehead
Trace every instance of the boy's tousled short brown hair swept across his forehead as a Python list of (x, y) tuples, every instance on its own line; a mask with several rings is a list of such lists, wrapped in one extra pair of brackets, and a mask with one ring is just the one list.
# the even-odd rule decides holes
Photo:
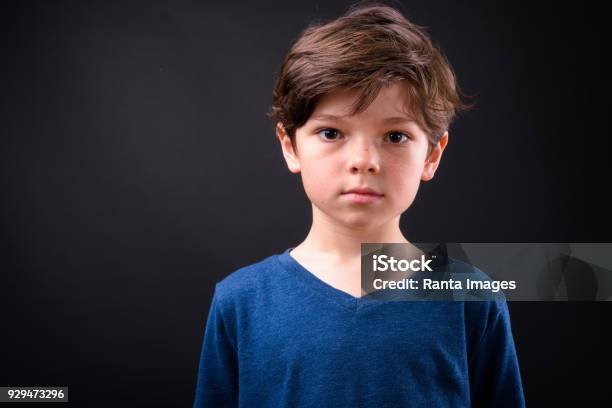
[(295, 140), (317, 101), (337, 89), (358, 90), (350, 112), (366, 109), (383, 86), (405, 80), (414, 120), (437, 144), (455, 114), (469, 108), (455, 74), (423, 27), (378, 2), (309, 25), (285, 56), (268, 116)]

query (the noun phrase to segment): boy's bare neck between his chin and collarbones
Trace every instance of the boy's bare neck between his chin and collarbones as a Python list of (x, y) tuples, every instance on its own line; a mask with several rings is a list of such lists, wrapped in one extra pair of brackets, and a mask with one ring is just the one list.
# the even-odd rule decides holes
[(325, 254), (339, 260), (359, 259), (361, 243), (408, 243), (399, 228), (399, 220), (398, 215), (382, 225), (347, 226), (313, 205), (312, 226), (299, 248), (304, 252)]

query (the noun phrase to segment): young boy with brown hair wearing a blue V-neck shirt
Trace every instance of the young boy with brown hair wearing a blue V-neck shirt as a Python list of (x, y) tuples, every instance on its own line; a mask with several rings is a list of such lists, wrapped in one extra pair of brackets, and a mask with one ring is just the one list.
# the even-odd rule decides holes
[(464, 107), (441, 52), (393, 8), (302, 33), (271, 116), (312, 227), (216, 285), (195, 407), (524, 406), (505, 302), (362, 296), (360, 244), (409, 244), (400, 216)]

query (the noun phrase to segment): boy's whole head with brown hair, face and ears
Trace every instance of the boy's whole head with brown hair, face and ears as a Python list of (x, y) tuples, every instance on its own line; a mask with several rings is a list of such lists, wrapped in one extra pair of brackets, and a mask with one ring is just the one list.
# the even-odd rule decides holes
[(433, 177), (464, 107), (431, 40), (374, 4), (302, 33), (281, 67), (270, 116), (314, 216), (380, 230)]

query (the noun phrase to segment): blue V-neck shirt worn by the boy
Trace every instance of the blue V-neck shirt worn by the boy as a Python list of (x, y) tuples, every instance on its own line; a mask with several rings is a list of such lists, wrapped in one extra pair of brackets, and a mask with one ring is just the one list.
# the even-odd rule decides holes
[(290, 250), (216, 285), (194, 407), (525, 405), (505, 301), (357, 298)]

